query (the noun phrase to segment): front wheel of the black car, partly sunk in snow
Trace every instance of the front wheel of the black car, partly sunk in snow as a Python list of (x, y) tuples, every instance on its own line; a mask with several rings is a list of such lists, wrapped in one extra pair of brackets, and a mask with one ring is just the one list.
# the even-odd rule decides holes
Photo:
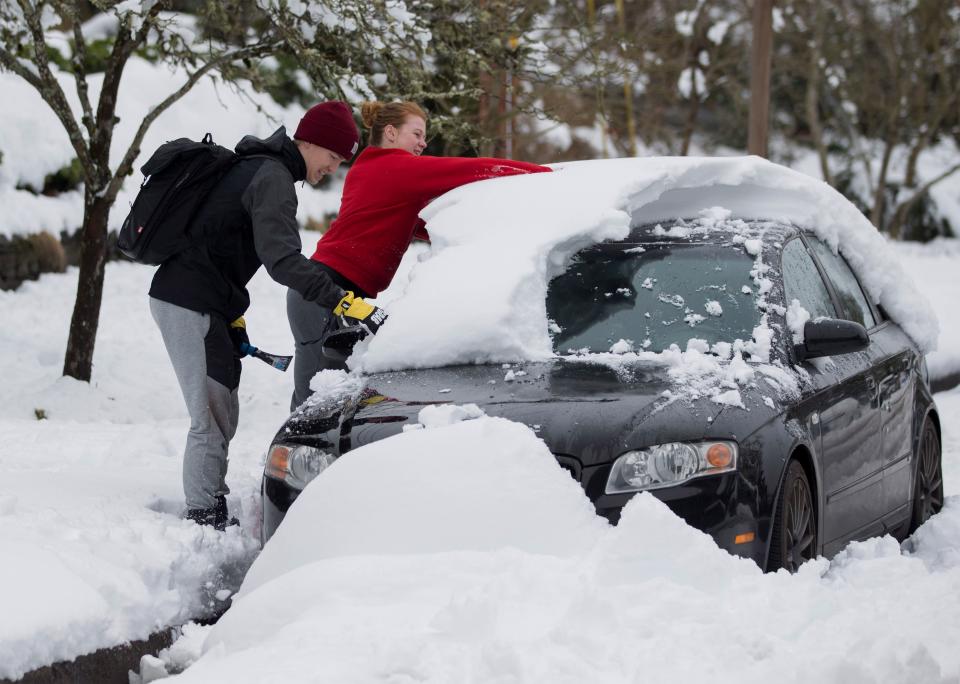
[(774, 510), (767, 570), (797, 568), (817, 555), (817, 516), (813, 491), (799, 461), (790, 461)]

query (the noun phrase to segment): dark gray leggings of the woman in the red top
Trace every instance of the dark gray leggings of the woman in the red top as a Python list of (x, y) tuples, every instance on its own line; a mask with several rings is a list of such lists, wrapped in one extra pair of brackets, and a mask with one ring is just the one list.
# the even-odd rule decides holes
[(296, 290), (287, 290), (287, 321), (293, 333), (293, 397), (290, 410), (302, 404), (313, 392), (310, 381), (326, 368), (345, 369), (346, 364), (323, 355), (323, 338), (336, 330), (337, 320), (329, 308), (304, 299)]

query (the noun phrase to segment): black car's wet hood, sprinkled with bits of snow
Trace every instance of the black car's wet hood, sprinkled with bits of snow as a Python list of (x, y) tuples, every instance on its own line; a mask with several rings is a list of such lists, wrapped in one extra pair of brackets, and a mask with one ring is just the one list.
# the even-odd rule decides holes
[(736, 439), (778, 412), (759, 395), (747, 396), (749, 389), (743, 394), (750, 411), (706, 398), (678, 399), (676, 390), (667, 367), (650, 362), (617, 370), (557, 359), (395, 371), (367, 377), (364, 389), (346, 401), (303, 411), (281, 433), (292, 438), (327, 430), (321, 442), (342, 453), (417, 423), (425, 406), (476, 404), (489, 416), (528, 425), (555, 454), (587, 466), (662, 442)]

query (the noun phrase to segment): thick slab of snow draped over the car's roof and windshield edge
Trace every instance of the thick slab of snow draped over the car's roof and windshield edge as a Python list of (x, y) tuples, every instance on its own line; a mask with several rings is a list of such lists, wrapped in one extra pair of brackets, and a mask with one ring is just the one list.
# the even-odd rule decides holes
[(378, 372), (550, 358), (547, 285), (576, 252), (625, 238), (631, 225), (717, 207), (735, 218), (812, 230), (839, 248), (869, 296), (921, 349), (936, 346), (936, 316), (884, 239), (822, 181), (759, 157), (612, 159), (553, 168), (472, 183), (426, 207), (420, 215), (432, 249), (392, 304), (387, 325), (358, 347), (351, 367)]

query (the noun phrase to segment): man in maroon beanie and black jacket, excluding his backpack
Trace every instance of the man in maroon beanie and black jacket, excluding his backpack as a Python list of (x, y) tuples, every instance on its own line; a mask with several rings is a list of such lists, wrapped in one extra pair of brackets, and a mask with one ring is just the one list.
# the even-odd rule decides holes
[[(324, 102), (300, 120), (246, 136), (240, 160), (212, 190), (190, 227), (194, 244), (164, 262), (150, 287), (160, 328), (190, 414), (183, 462), (187, 517), (223, 529), (230, 440), (237, 429), (246, 285), (261, 265), (281, 285), (333, 309), (347, 295), (325, 267), (300, 252), (294, 183), (316, 184), (353, 157), (360, 136), (344, 102)], [(350, 307), (357, 317), (373, 307)], [(351, 312), (347, 312), (350, 316)]]

